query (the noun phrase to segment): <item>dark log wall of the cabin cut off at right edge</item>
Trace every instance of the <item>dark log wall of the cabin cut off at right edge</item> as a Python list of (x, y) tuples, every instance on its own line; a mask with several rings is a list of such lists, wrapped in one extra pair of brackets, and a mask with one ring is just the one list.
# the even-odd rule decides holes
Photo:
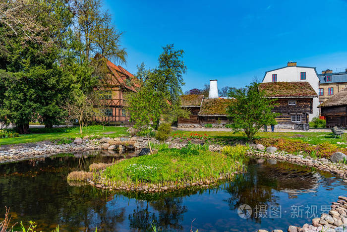
[(321, 115), (325, 116), (326, 126), (328, 128), (334, 126), (347, 127), (346, 106), (333, 106), (321, 108)]

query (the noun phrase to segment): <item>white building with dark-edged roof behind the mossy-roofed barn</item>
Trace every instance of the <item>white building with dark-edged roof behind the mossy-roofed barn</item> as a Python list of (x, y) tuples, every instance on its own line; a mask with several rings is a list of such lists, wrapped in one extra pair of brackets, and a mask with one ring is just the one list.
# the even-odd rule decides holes
[[(310, 83), (318, 95), (318, 73), (315, 67), (296, 66), (296, 62), (288, 62), (286, 67), (267, 71), (263, 78), (265, 82), (293, 82), (306, 81)], [(309, 114), (309, 120), (319, 115), (318, 98), (313, 98), (313, 114)]]

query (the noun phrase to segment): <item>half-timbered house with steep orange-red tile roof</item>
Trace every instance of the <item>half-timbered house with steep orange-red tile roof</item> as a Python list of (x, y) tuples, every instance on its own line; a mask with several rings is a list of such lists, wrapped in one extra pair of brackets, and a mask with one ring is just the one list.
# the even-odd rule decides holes
[(98, 78), (101, 82), (99, 87), (95, 87), (100, 95), (101, 105), (104, 107), (105, 116), (97, 118), (97, 121), (108, 122), (110, 124), (124, 124), (129, 121), (125, 107), (124, 94), (127, 92), (137, 92), (140, 81), (130, 72), (120, 65), (106, 60), (107, 74), (104, 78)]

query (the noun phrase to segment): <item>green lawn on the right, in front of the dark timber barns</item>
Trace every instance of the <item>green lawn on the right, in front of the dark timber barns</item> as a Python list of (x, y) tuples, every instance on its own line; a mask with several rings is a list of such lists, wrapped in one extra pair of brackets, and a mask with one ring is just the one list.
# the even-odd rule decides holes
[[(246, 136), (243, 132), (227, 132), (227, 131), (173, 131), (172, 134), (207, 134), (211, 139), (218, 139), (221, 141), (226, 140), (245, 140)], [(342, 139), (339, 137), (334, 139), (333, 133), (329, 132), (258, 132), (255, 135), (256, 139), (259, 138), (289, 138), (289, 139), (298, 139), (309, 144), (321, 144), (324, 142), (329, 142), (331, 144), (336, 144), (337, 142), (347, 142), (346, 134)], [(346, 147), (346, 145), (344, 146)]]

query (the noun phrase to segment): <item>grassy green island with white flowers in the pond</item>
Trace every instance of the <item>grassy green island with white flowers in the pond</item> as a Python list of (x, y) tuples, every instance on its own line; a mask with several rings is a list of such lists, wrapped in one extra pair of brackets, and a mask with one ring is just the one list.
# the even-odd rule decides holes
[(182, 149), (161, 146), (153, 155), (123, 160), (108, 167), (96, 183), (122, 190), (162, 191), (210, 185), (243, 172), (247, 148), (226, 147), (211, 152), (208, 146), (188, 144)]

